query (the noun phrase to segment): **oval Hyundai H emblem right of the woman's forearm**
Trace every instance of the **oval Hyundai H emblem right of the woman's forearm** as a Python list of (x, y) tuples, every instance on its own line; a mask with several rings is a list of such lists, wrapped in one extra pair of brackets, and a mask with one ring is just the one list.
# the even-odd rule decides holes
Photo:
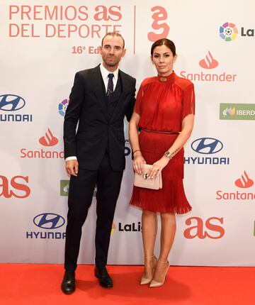
[(218, 153), (223, 148), (222, 142), (215, 138), (200, 138), (194, 140), (191, 144), (191, 148), (196, 151), (196, 153), (203, 153), (205, 155)]

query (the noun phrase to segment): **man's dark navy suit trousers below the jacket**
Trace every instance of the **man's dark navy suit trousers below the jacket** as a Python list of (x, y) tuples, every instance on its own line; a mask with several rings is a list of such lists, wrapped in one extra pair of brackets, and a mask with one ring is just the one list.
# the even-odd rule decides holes
[[(64, 267), (77, 268), (81, 227), (86, 220), (96, 192), (96, 265), (106, 265), (115, 206), (120, 192), (123, 171), (113, 171), (108, 153), (105, 153), (98, 170), (79, 169), (78, 177), (72, 176), (69, 184), (68, 214)], [(85, 232), (85, 234), (90, 234)], [(84, 236), (86, 238), (86, 236)]]

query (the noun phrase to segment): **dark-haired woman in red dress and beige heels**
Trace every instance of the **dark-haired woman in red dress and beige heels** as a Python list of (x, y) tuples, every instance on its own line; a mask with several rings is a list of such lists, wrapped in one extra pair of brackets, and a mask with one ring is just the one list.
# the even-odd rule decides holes
[[(148, 177), (153, 179), (162, 173), (163, 187), (134, 187), (130, 204), (142, 209), (145, 270), (141, 284), (159, 287), (169, 268), (168, 256), (176, 233), (175, 214), (191, 211), (183, 189), (183, 145), (193, 129), (195, 94), (192, 82), (174, 73), (176, 48), (171, 40), (164, 38), (153, 43), (151, 60), (157, 77), (144, 79), (138, 91), (130, 121), (130, 143), (135, 172), (143, 174), (145, 163), (153, 165)], [(154, 256), (157, 213), (161, 218), (158, 260)]]

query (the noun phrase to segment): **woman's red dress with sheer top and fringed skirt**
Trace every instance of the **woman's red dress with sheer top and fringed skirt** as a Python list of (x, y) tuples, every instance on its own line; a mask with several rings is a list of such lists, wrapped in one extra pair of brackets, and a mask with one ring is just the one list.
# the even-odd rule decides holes
[[(161, 79), (144, 79), (135, 104), (135, 112), (140, 115), (139, 127), (142, 128), (140, 150), (146, 163), (151, 165), (174, 143), (181, 132), (183, 118), (195, 113), (193, 83), (174, 72), (163, 78), (164, 82)], [(185, 214), (191, 211), (183, 189), (183, 163), (182, 148), (162, 170), (162, 189), (133, 187), (130, 204), (159, 213)]]

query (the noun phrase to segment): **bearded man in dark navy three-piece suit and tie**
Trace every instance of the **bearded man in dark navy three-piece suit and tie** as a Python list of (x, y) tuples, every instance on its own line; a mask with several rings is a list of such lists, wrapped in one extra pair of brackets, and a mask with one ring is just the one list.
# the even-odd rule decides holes
[(91, 206), (95, 186), (95, 276), (101, 286), (113, 287), (106, 264), (115, 205), (125, 169), (123, 119), (126, 116), (129, 121), (132, 115), (135, 79), (118, 69), (125, 55), (125, 42), (119, 33), (106, 34), (100, 52), (101, 65), (75, 75), (64, 117), (64, 155), (67, 172), (71, 175), (65, 272), (61, 285), (65, 294), (75, 290), (81, 227)]

